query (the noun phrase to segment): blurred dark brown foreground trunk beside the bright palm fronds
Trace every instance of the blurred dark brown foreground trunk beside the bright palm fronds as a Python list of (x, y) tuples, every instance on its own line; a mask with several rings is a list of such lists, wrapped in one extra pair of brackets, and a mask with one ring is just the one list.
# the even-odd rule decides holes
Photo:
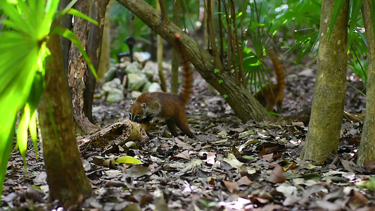
[(57, 199), (63, 207), (68, 207), (88, 198), (91, 195), (91, 184), (84, 173), (75, 140), (58, 35), (51, 35), (48, 48), (52, 63), (47, 63), (46, 72), (50, 72), (50, 76), (39, 104), (39, 124), (50, 199)]

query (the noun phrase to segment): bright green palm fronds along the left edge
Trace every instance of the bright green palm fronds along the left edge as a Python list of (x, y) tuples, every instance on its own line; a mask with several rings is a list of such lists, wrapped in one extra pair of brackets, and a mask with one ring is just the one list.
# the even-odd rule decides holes
[[(0, 1), (4, 29), (0, 32), (0, 195), (6, 173), (13, 137), (16, 115), (20, 113), (17, 129), (17, 147), (25, 160), (27, 129), (34, 148), (37, 146), (37, 123), (35, 109), (45, 88), (46, 60), (50, 55), (46, 47), (49, 35), (60, 34), (70, 39), (81, 50), (91, 70), (94, 67), (77, 37), (57, 25), (65, 13), (86, 18), (87, 15), (70, 8), (73, 0), (63, 11), (56, 13), (59, 1)], [(96, 23), (97, 24), (97, 23)], [(53, 61), (52, 61), (53, 62)], [(93, 71), (94, 75), (95, 70)]]

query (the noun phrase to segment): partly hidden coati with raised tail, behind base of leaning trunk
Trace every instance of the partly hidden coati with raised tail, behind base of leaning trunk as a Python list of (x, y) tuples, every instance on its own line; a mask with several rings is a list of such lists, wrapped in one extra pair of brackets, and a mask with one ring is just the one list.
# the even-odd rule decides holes
[(284, 89), (285, 89), (285, 72), (284, 66), (281, 64), (277, 54), (274, 50), (269, 49), (267, 51), (269, 58), (272, 60), (274, 65), (274, 72), (277, 79), (277, 84), (267, 84), (262, 90), (254, 94), (254, 97), (262, 103), (263, 106), (267, 105), (268, 110), (273, 110), (274, 105), (277, 106), (277, 111), (281, 113), (284, 101)]

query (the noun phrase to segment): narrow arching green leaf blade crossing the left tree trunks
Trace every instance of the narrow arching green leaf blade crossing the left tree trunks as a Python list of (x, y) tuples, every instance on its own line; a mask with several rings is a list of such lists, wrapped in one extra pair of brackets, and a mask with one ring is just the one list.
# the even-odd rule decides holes
[(57, 26), (53, 29), (53, 34), (59, 34), (67, 39), (69, 39), (70, 41), (72, 41), (72, 43), (75, 44), (75, 46), (77, 46), (78, 50), (80, 50), (80, 52), (82, 53), (82, 56), (84, 57), (84, 59), (86, 60), (87, 62), (87, 66), (89, 66), (91, 72), (92, 72), (92, 75), (94, 75), (96, 81), (98, 82), (99, 81), (99, 78), (98, 78), (98, 75), (96, 75), (96, 71), (95, 71), (95, 68), (94, 66), (92, 65), (91, 63), (91, 60), (89, 58), (89, 56), (87, 56), (87, 53), (86, 51), (84, 51), (84, 48), (80, 42), (80, 39), (78, 39), (78, 37), (70, 30), (68, 30), (67, 28), (65, 27), (62, 27), (62, 26)]

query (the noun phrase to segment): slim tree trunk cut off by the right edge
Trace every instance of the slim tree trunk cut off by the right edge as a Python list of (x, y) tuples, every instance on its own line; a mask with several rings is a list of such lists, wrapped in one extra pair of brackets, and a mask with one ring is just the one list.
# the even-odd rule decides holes
[[(372, 1), (372, 6), (375, 6), (374, 1)], [(370, 0), (363, 1), (362, 15), (369, 55), (367, 57), (366, 117), (364, 117), (362, 139), (358, 151), (357, 165), (359, 166), (363, 166), (363, 162), (375, 160), (375, 34), (372, 21), (374, 14), (371, 14)]]

